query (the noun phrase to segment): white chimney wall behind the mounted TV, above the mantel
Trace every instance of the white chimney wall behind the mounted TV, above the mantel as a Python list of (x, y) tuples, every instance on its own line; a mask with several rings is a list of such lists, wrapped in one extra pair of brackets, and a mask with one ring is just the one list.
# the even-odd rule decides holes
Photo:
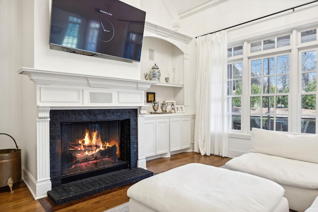
[[(126, 0), (136, 5), (138, 0)], [(51, 0), (34, 0), (34, 67), (35, 69), (140, 79), (140, 63), (121, 62), (51, 50), (49, 25)], [(29, 23), (29, 24), (33, 24)]]

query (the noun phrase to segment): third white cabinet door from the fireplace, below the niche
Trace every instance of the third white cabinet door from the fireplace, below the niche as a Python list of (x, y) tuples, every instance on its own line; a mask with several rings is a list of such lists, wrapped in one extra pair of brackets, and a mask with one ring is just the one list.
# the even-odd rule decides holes
[(181, 119), (170, 119), (170, 151), (181, 149)]

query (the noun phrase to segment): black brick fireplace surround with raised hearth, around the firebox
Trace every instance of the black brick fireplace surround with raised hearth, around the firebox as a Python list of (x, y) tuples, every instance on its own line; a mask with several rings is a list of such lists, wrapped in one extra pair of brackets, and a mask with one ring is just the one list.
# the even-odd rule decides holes
[[(49, 199), (55, 205), (61, 205), (101, 191), (123, 186), (150, 177), (152, 172), (137, 168), (138, 160), (138, 123), (137, 109), (84, 109), (84, 110), (51, 110), (50, 111), (50, 177), (52, 190), (48, 191)], [(62, 139), (61, 124), (78, 122), (100, 122), (112, 120), (129, 120), (126, 123), (128, 147), (125, 154), (127, 162), (118, 167), (106, 168), (103, 171), (79, 175), (77, 178), (62, 177)], [(129, 134), (129, 133), (128, 133)], [(122, 142), (122, 141), (121, 141)]]

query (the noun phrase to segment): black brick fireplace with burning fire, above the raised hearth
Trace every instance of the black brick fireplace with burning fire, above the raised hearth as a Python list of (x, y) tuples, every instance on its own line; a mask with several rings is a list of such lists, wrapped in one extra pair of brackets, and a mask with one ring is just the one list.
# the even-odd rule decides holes
[[(136, 168), (137, 112), (137, 109), (50, 110), (52, 189), (81, 179)], [(88, 137), (95, 138), (95, 143), (84, 145)], [(93, 152), (98, 148), (104, 151)]]

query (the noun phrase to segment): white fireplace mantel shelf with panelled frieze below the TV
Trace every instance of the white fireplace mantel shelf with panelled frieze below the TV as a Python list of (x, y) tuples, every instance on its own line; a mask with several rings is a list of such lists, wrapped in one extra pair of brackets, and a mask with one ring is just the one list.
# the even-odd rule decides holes
[(42, 107), (144, 107), (145, 90), (158, 82), (21, 68), (37, 86)]

